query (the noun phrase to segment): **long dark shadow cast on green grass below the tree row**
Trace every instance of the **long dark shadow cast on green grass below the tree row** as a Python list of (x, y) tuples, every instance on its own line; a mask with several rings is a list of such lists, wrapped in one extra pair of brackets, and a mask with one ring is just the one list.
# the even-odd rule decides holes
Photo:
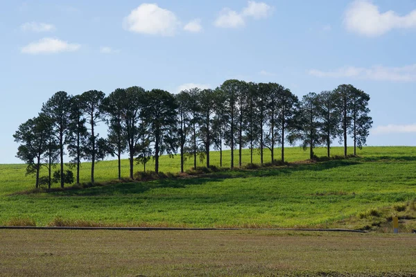
[(198, 186), (207, 182), (219, 182), (224, 179), (248, 178), (248, 177), (279, 177), (279, 175), (291, 175), (294, 172), (304, 170), (322, 171), (332, 168), (354, 166), (358, 161), (352, 160), (333, 160), (320, 163), (291, 163), (288, 166), (276, 166), (268, 168), (257, 168), (255, 170), (224, 170), (205, 175), (187, 176), (156, 181), (139, 181), (130, 183), (120, 183), (107, 186), (96, 186), (76, 190), (64, 190), (52, 193), (55, 196), (98, 196), (98, 195), (132, 195), (144, 193), (154, 188), (185, 188), (186, 186)]

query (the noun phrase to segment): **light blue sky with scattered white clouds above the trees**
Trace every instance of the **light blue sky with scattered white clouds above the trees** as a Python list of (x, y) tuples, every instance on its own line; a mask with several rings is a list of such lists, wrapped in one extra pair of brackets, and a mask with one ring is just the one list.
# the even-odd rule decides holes
[[(370, 94), (368, 145), (416, 145), (416, 2), (1, 1), (0, 163), (56, 91), (173, 93), (238, 78)], [(105, 130), (105, 127), (103, 127)]]

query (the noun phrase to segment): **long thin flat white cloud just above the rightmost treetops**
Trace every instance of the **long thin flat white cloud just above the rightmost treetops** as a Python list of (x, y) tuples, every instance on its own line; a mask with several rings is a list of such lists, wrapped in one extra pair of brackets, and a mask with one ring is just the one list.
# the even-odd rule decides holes
[(372, 66), (369, 69), (363, 67), (347, 66), (335, 71), (320, 71), (311, 69), (309, 75), (320, 78), (356, 78), (363, 80), (416, 82), (416, 64), (401, 67)]

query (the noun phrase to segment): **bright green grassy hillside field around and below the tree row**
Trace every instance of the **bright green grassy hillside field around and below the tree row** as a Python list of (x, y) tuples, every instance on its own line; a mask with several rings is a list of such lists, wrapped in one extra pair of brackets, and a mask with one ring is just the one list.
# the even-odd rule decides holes
[[(276, 152), (279, 157), (279, 149)], [(342, 152), (342, 148), (332, 149), (332, 154)], [(324, 156), (325, 149), (317, 148), (315, 153)], [(249, 154), (244, 151), (245, 163), (250, 161)], [(308, 154), (288, 148), (286, 160), (302, 161)], [(0, 224), (318, 226), (390, 231), (388, 220), (397, 214), (402, 231), (416, 229), (416, 148), (368, 147), (358, 155), (347, 160), (26, 195), (15, 194), (34, 187), (33, 177), (24, 176), (25, 166), (0, 165)], [(229, 152), (224, 158), (224, 165), (229, 166)], [(219, 166), (218, 152), (213, 152), (211, 160)], [(160, 170), (177, 172), (179, 161), (179, 157), (162, 157)], [(258, 155), (255, 162), (259, 162)], [(89, 166), (83, 164), (82, 181), (89, 180)], [(191, 168), (191, 161), (185, 168)], [(96, 181), (109, 181), (116, 174), (116, 161), (96, 166)], [(122, 174), (128, 175), (128, 161), (123, 161)]]

